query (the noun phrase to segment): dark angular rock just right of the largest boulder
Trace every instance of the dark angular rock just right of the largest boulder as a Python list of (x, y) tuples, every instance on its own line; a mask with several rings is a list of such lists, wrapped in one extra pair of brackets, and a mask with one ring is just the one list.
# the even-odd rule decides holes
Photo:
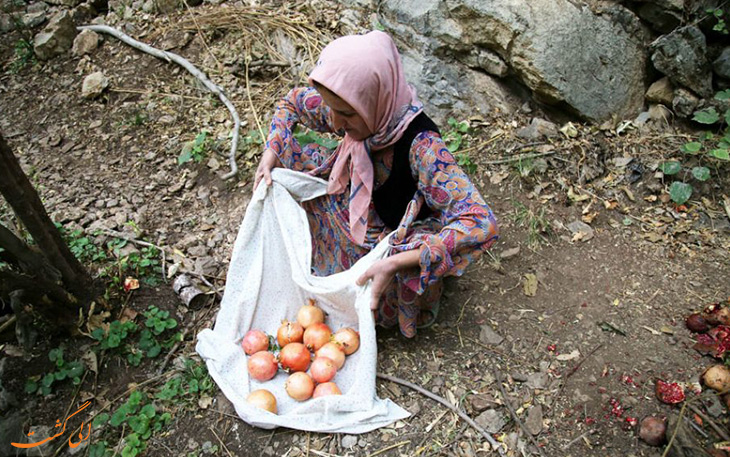
[(712, 73), (707, 62), (707, 42), (702, 31), (687, 26), (659, 37), (650, 46), (654, 67), (673, 83), (703, 97), (712, 95)]

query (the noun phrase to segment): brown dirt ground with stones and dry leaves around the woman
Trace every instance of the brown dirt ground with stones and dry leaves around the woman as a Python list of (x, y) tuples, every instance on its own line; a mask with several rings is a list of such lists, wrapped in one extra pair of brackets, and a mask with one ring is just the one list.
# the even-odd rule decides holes
[[(241, 56), (231, 51), (240, 49), (242, 38), (181, 35), (171, 24), (182, 19), (180, 13), (129, 22), (141, 39), (168, 43), (221, 80), (245, 118), (242, 134), (250, 138), (255, 119), (244, 78), (236, 76)], [(18, 39), (18, 32), (0, 35), (0, 61), (13, 61)], [(206, 53), (208, 46), (221, 66)], [(110, 78), (110, 90), (87, 100), (81, 84), (95, 70)], [(266, 77), (252, 75), (251, 87), (261, 87)], [(276, 100), (257, 94), (269, 97), (269, 106)], [(117, 232), (174, 250), (165, 259), (168, 271), (193, 271), (222, 290), (259, 147), (254, 141), (242, 148), (239, 176), (222, 180), (228, 171), (228, 113), (182, 70), (105, 38), (82, 58), (65, 55), (17, 72), (6, 66), (0, 106), (0, 131), (55, 221), (95, 234), (99, 245)], [(378, 331), (379, 371), (454, 399), (482, 427), (495, 427), (492, 436), (508, 455), (660, 456), (663, 448), (638, 439), (635, 423), (647, 415), (680, 414), (679, 406), (656, 398), (655, 382), (698, 382), (712, 360), (692, 348), (684, 319), (730, 297), (730, 222), (720, 203), (730, 194), (727, 167), (716, 168), (718, 178), (677, 209), (663, 198), (667, 186), (655, 170), (688, 138), (682, 126), (654, 124), (616, 134), (615, 126), (574, 122), (572, 137), (517, 137), (538, 109), (472, 119), (474, 147), (466, 157), (498, 217), (499, 242), (463, 277), (447, 281), (432, 328), (410, 340)], [(202, 161), (179, 165), (183, 144), (203, 130), (223, 140)], [(529, 167), (494, 163), (535, 148), (549, 154)], [(589, 221), (588, 229), (568, 228), (581, 220)], [(109, 305), (112, 316), (121, 315), (122, 306), (138, 313), (149, 305), (170, 311), (187, 329), (167, 362), (174, 367), (181, 357), (197, 360), (195, 334), (213, 324), (219, 301), (212, 294), (203, 308), (187, 310), (169, 281), (142, 284)], [(2, 385), (17, 400), (24, 432), (51, 426), (85, 397), (98, 410), (124, 401), (133, 384), (159, 387), (144, 383), (154, 379), (161, 358), (134, 367), (109, 356), (79, 389), (59, 384), (49, 396), (27, 394), (26, 379), (51, 368), (50, 349), (64, 342), (69, 354), (81, 354), (93, 340), (41, 333), (30, 355), (7, 332), (0, 341)], [(412, 416), (357, 436), (254, 428), (237, 418), (216, 387), (189, 393), (170, 406), (172, 419), (149, 438), (142, 455), (497, 455), (444, 406), (381, 379), (377, 387), (379, 396)], [(696, 402), (704, 418), (683, 413), (704, 446), (722, 441), (711, 423), (728, 430), (728, 412), (716, 403)], [(119, 432), (100, 427), (92, 440), (107, 441), (122, 455)], [(58, 443), (48, 449), (43, 455), (70, 455)]]

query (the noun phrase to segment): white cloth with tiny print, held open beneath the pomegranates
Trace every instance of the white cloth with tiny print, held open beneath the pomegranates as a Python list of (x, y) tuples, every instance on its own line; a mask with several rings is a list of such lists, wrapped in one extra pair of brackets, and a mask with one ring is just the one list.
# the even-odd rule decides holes
[[(213, 330), (198, 334), (198, 354), (238, 415), (257, 427), (365, 433), (408, 417), (403, 408), (376, 396), (377, 345), (370, 283), (355, 284), (370, 265), (387, 254), (389, 238), (349, 270), (313, 276), (309, 222), (298, 202), (324, 195), (327, 183), (281, 168), (273, 170), (272, 179), (271, 186), (258, 186), (246, 209), (221, 308)], [(342, 395), (297, 402), (284, 390), (285, 372), (279, 370), (264, 382), (249, 377), (241, 340), (250, 329), (275, 336), (281, 321), (294, 321), (309, 298), (327, 313), (325, 323), (333, 332), (342, 327), (358, 330), (360, 349), (347, 357), (334, 378)], [(246, 403), (249, 392), (256, 389), (274, 394), (278, 415)]]

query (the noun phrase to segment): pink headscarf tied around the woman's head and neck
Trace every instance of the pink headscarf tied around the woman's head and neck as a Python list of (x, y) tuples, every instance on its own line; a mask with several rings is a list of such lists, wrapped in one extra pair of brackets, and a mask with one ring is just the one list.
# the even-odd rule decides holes
[(379, 31), (334, 40), (322, 50), (309, 81), (316, 81), (347, 102), (374, 132), (364, 141), (345, 134), (327, 161), (329, 165), (334, 160), (327, 193), (342, 193), (352, 181), (350, 234), (362, 244), (373, 192), (370, 151), (397, 142), (423, 105), (406, 82), (395, 43)]

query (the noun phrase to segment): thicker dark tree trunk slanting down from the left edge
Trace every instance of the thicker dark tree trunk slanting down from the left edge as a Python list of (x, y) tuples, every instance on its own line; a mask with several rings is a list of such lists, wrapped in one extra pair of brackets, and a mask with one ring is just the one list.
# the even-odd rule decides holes
[(0, 193), (23, 222), (40, 252), (61, 273), (64, 287), (80, 302), (86, 302), (94, 294), (91, 276), (66, 246), (60, 232), (48, 217), (38, 193), (2, 135)]

